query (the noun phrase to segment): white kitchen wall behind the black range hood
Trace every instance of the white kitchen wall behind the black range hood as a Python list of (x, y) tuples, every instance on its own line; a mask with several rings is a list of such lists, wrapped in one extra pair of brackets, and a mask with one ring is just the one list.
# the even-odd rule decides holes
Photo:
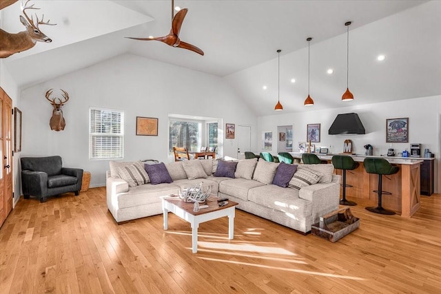
[[(348, 102), (350, 105), (350, 102)], [(365, 135), (328, 135), (328, 130), (337, 114), (356, 112), (366, 129)], [(386, 119), (409, 118), (409, 143), (386, 143)], [(320, 123), (320, 143), (316, 147), (330, 147), (332, 153), (343, 151), (343, 143), (350, 139), (353, 143), (353, 152), (364, 154), (366, 144), (373, 145), (373, 155), (387, 154), (389, 146), (396, 153), (407, 149), (410, 143), (421, 143), (422, 151), (428, 148), (437, 158), (435, 162), (435, 193), (441, 192), (440, 178), (440, 136), (441, 127), (438, 120), (441, 118), (441, 96), (414, 98), (403, 101), (367, 104), (360, 107), (345, 107), (340, 109), (327, 109), (322, 111), (308, 111), (296, 114), (275, 114), (272, 116), (258, 117), (258, 134), (273, 132), (272, 154), (277, 154), (278, 125), (294, 124), (294, 151), (298, 151), (298, 142), (307, 141), (307, 124)], [(263, 151), (260, 142), (261, 135), (257, 136), (258, 152)], [(438, 182), (438, 184), (437, 184)]]

